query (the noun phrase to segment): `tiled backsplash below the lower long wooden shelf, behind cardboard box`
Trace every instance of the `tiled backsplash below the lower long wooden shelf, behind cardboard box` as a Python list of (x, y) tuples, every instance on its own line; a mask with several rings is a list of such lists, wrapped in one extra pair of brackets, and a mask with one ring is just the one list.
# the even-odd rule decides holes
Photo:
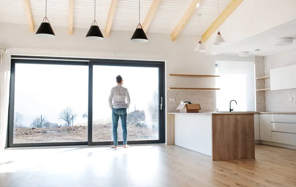
[[(175, 98), (176, 101), (170, 101)], [(209, 101), (211, 99), (211, 101)], [(192, 104), (200, 104), (201, 111), (216, 111), (216, 91), (167, 91), (167, 111), (177, 111), (181, 101), (191, 101)]]

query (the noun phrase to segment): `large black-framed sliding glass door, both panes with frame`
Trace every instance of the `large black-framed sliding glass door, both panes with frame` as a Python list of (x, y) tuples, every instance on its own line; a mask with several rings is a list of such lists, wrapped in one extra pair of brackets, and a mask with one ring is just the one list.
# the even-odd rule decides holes
[[(163, 63), (12, 59), (9, 147), (111, 145), (108, 98), (122, 75), (129, 144), (164, 143)], [(118, 141), (122, 144), (121, 121)]]

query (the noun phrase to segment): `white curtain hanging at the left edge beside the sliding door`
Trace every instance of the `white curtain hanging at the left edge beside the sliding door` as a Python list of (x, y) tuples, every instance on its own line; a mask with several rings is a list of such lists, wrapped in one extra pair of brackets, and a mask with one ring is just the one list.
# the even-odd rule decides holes
[(0, 48), (0, 151), (7, 135), (11, 50)]

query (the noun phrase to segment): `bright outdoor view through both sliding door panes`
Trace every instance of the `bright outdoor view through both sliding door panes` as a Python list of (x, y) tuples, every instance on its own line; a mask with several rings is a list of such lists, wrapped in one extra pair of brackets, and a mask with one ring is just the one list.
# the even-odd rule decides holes
[[(131, 97), (128, 140), (158, 140), (158, 68), (94, 66), (93, 141), (113, 139), (108, 98), (116, 75)], [(13, 143), (87, 141), (88, 66), (16, 63), (14, 98)]]

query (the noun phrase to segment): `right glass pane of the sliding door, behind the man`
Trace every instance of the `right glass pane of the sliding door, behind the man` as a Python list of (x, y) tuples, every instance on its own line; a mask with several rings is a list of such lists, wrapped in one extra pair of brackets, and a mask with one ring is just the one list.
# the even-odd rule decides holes
[[(108, 98), (121, 75), (128, 88), (131, 104), (127, 117), (128, 140), (158, 140), (159, 83), (158, 68), (94, 66), (93, 67), (93, 141), (113, 141), (111, 109)], [(121, 121), (118, 141), (122, 140)]]

